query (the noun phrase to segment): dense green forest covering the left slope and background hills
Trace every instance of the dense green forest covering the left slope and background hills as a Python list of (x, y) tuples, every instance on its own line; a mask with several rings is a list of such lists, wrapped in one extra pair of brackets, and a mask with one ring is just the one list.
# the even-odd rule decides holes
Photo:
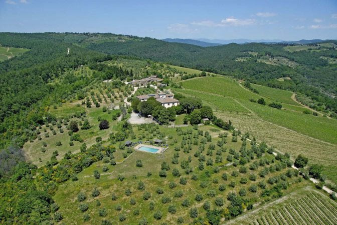
[[(260, 43), (205, 48), (109, 33), (0, 33), (0, 44), (30, 49), (0, 62), (0, 223), (26, 223), (30, 218), (32, 223), (43, 224), (50, 219), (51, 195), (38, 188), (33, 177), (37, 167), (25, 162), (21, 148), (30, 137), (36, 138), (39, 124), (55, 120), (48, 110), (51, 105), (75, 98), (95, 81), (130, 76), (118, 66), (100, 63), (116, 55), (190, 66), (289, 89), (337, 112), (337, 100), (325, 94), (337, 93), (337, 65), (320, 58), (337, 57), (332, 48), (288, 52), (281, 44)], [(286, 57), (298, 65), (267, 64), (257, 58), (235, 60), (249, 56), (247, 51), (257, 52), (257, 57)], [(69, 75), (82, 65), (93, 69), (92, 76)], [(280, 77), (291, 80), (278, 81)]]

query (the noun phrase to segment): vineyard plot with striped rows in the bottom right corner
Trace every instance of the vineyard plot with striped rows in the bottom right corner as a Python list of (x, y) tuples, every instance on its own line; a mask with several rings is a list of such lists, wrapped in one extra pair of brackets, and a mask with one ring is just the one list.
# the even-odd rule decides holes
[[(282, 203), (256, 210), (239, 218), (240, 224), (337, 224), (337, 204), (325, 195), (308, 189), (302, 196), (291, 196)], [(247, 218), (248, 217), (248, 218)]]

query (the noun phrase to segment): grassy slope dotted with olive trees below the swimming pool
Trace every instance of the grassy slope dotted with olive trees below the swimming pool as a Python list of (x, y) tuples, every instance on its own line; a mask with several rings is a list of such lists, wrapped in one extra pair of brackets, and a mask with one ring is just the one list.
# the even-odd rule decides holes
[[(226, 151), (217, 151), (220, 149), (216, 145), (216, 149), (213, 150), (213, 154), (206, 155), (206, 151), (209, 148), (211, 143), (216, 144), (220, 139), (218, 136), (221, 132), (221, 129), (208, 125), (200, 126), (200, 130), (208, 131), (212, 136), (212, 141), (205, 144), (205, 151), (202, 154), (205, 154), (206, 159), (212, 158), (215, 161), (216, 157), (222, 157), (222, 162), (214, 163), (213, 165), (205, 165), (204, 170), (198, 169), (200, 161), (198, 157), (194, 156), (195, 152), (198, 150), (196, 144), (192, 144), (192, 150), (180, 151), (175, 150), (175, 146), (181, 146), (183, 139), (189, 140), (189, 135), (192, 137), (191, 140), (204, 138), (201, 135), (196, 134), (197, 130), (193, 130), (192, 126), (182, 127), (183, 132), (188, 132), (191, 130), (193, 134), (183, 133), (178, 135), (176, 128), (166, 128), (163, 126), (157, 126), (154, 129), (139, 129), (138, 126), (134, 126), (133, 130), (137, 136), (136, 139), (132, 141), (137, 141), (140, 136), (145, 136), (145, 139), (148, 137), (156, 137), (159, 135), (164, 135), (167, 139), (167, 143), (170, 147), (161, 155), (146, 153), (146, 152), (134, 152), (122, 163), (116, 165), (110, 165), (109, 163), (102, 163), (98, 161), (91, 165), (90, 167), (84, 169), (78, 174), (78, 181), (68, 180), (62, 184), (58, 191), (55, 194), (55, 202), (60, 206), (60, 213), (63, 215), (63, 222), (72, 223), (77, 221), (77, 224), (91, 224), (94, 221), (100, 221), (102, 219), (107, 219), (113, 224), (138, 224), (142, 218), (146, 218), (148, 224), (162, 223), (166, 222), (168, 224), (177, 224), (178, 218), (183, 218), (183, 223), (187, 224), (193, 221), (193, 218), (190, 217), (190, 209), (197, 208), (199, 216), (206, 216), (206, 210), (203, 208), (203, 204), (206, 201), (209, 201), (212, 208), (216, 206), (216, 199), (223, 201), (223, 205), (226, 207), (229, 204), (229, 201), (226, 199), (226, 196), (229, 192), (238, 193), (240, 189), (246, 190), (245, 198), (249, 198), (253, 201), (261, 202), (263, 197), (260, 197), (263, 189), (258, 188), (257, 192), (251, 192), (248, 188), (252, 184), (257, 184), (258, 182), (266, 180), (271, 176), (278, 176), (284, 174), (287, 169), (282, 169), (280, 171), (269, 172), (265, 177), (259, 177), (252, 181), (248, 179), (249, 174), (257, 174), (265, 166), (274, 165), (278, 163), (277, 161), (272, 162), (274, 155), (266, 153), (263, 158), (266, 158), (270, 161), (270, 165), (259, 166), (257, 170), (250, 170), (246, 173), (239, 173), (238, 176), (233, 176), (233, 171), (237, 171), (240, 166), (227, 165), (230, 161), (226, 160), (229, 155), (229, 148), (234, 148), (238, 152), (242, 141), (238, 139), (237, 142), (232, 142), (232, 135), (229, 133), (226, 138), (228, 142), (225, 144)], [(171, 138), (170, 138), (171, 136)], [(149, 138), (150, 139), (150, 138)], [(176, 143), (176, 141), (177, 143)], [(186, 145), (187, 146), (187, 145)], [(250, 148), (250, 144), (247, 144), (247, 149)], [(118, 152), (125, 151), (117, 149), (114, 155), (119, 154)], [(218, 153), (218, 155), (216, 154)], [(191, 158), (190, 166), (193, 169), (193, 172), (187, 174), (184, 172), (185, 169), (181, 167), (181, 164), (172, 163), (174, 155), (179, 155), (178, 160), (181, 163), (184, 160), (189, 160)], [(221, 154), (221, 155), (220, 155)], [(136, 160), (140, 159), (142, 162), (142, 167), (136, 166)], [(254, 161), (259, 161), (260, 159), (254, 158), (245, 166), (249, 167)], [(161, 163), (166, 162), (170, 169), (167, 171), (167, 177), (160, 177), (158, 172), (161, 167)], [(106, 172), (102, 171), (103, 165), (108, 166)], [(220, 166), (219, 172), (214, 172), (214, 168)], [(101, 173), (99, 179), (95, 179), (92, 174), (93, 170), (98, 169)], [(172, 174), (173, 169), (178, 169), (181, 173), (181, 176), (174, 176)], [(151, 175), (148, 176), (148, 172), (151, 172)], [(227, 180), (222, 178), (222, 174), (226, 173), (228, 175)], [(118, 174), (121, 174), (125, 177), (123, 181), (116, 179)], [(181, 178), (186, 178), (187, 183), (182, 184)], [(195, 179), (192, 179), (195, 177)], [(246, 183), (240, 183), (240, 180), (245, 177), (247, 178)], [(297, 177), (293, 176), (291, 178), (287, 177), (286, 182), (291, 183), (288, 189), (284, 190), (284, 193), (287, 194), (295, 189), (304, 187), (309, 183), (307, 181), (297, 182)], [(144, 190), (138, 189), (139, 182), (144, 183)], [(230, 186), (231, 182), (235, 182), (234, 187)], [(175, 187), (170, 187), (170, 183), (174, 182)], [(220, 185), (225, 186), (225, 190), (219, 190)], [(266, 184), (266, 188), (270, 188), (273, 184)], [(309, 184), (310, 185), (310, 184)], [(99, 196), (92, 197), (91, 191), (94, 188), (98, 188), (100, 191)], [(126, 195), (125, 191), (127, 189), (131, 190), (130, 195)], [(163, 193), (157, 192), (157, 189), (161, 188)], [(149, 199), (143, 199), (144, 192), (148, 191), (150, 193)], [(88, 204), (88, 210), (82, 213), (79, 209), (79, 205), (82, 202), (77, 200), (77, 194), (79, 192), (84, 192), (87, 196), (86, 200), (83, 202)], [(196, 195), (199, 194), (201, 199), (196, 200)], [(112, 195), (116, 195), (116, 199), (112, 200)], [(267, 197), (268, 198), (268, 197)], [(166, 202), (167, 201), (167, 202)], [(150, 203), (152, 202), (152, 203)], [(188, 205), (183, 204), (183, 202), (189, 202)], [(153, 204), (153, 209), (150, 209), (150, 204)], [(168, 208), (175, 208), (174, 212), (169, 212)], [(99, 215), (99, 210), (106, 210), (105, 216)], [(119, 209), (120, 210), (117, 210)], [(159, 220), (154, 218), (154, 213), (160, 211), (161, 218)], [(88, 221), (84, 221), (83, 216), (87, 214), (90, 216)], [(120, 221), (120, 217), (124, 215), (125, 220)]]

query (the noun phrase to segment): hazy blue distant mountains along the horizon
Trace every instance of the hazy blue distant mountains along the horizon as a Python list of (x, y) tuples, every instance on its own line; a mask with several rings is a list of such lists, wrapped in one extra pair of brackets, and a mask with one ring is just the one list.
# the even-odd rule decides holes
[(280, 40), (280, 39), (207, 39), (207, 38), (198, 38), (198, 39), (180, 39), (180, 38), (165, 38), (162, 39), (167, 42), (177, 42), (177, 43), (187, 43), (194, 44), (202, 47), (210, 47), (210, 46), (218, 46), (229, 43), (251, 43), (251, 42), (259, 42), (259, 43), (298, 43), (298, 44), (307, 44), (307, 43), (317, 43), (322, 42), (324, 40), (321, 39), (312, 39), (312, 40)]

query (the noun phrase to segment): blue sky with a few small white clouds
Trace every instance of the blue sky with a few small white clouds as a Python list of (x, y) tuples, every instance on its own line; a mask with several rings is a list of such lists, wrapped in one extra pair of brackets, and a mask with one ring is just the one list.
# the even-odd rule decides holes
[(337, 0), (0, 0), (0, 31), (336, 39)]

